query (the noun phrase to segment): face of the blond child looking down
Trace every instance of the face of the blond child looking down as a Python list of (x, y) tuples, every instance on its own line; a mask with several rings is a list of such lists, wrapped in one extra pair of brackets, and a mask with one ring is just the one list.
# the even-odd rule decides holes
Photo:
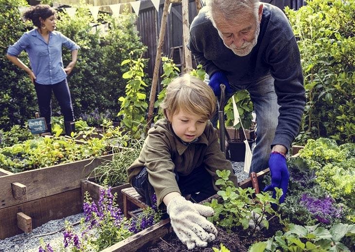
[(190, 114), (183, 110), (172, 116), (167, 112), (167, 116), (175, 134), (184, 142), (192, 142), (202, 135), (207, 124), (207, 120), (202, 119), (200, 115)]

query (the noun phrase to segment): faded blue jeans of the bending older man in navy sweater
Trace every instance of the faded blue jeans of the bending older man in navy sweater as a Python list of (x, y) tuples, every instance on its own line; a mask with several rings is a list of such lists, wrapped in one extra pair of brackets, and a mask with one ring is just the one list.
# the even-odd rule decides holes
[[(206, 81), (206, 80), (205, 80)], [(267, 74), (248, 85), (238, 86), (230, 84), (235, 92), (248, 90), (256, 113), (256, 140), (249, 172), (259, 172), (268, 167), (268, 160), (271, 151), (271, 144), (275, 136), (278, 124), (279, 108), (277, 95), (274, 88), (274, 78)], [(234, 93), (226, 93), (228, 101)], [(217, 97), (218, 100), (220, 97)], [(217, 125), (218, 114), (216, 113), (211, 122)]]

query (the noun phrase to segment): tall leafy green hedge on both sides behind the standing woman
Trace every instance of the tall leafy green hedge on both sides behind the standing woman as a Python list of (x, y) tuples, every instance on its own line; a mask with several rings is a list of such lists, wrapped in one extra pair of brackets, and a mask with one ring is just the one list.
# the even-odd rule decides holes
[[(25, 0), (0, 0), (0, 127), (9, 129), (23, 124), (38, 111), (34, 86), (27, 74), (6, 58), (9, 45), (14, 44), (32, 23), (24, 23), (18, 10), (27, 6)], [(92, 28), (92, 23), (107, 23), (106, 33)], [(77, 8), (70, 18), (65, 11), (58, 10), (57, 30), (71, 38), (81, 49), (74, 70), (68, 77), (71, 99), (76, 118), (83, 113), (111, 111), (115, 117), (120, 110), (118, 98), (124, 95), (126, 81), (122, 78), (126, 66), (121, 66), (129, 52), (144, 48), (135, 30), (135, 16), (120, 15), (112, 18), (100, 15), (93, 20), (85, 5)], [(139, 57), (133, 55), (133, 57)], [(19, 58), (29, 65), (28, 56), (22, 52)], [(71, 52), (63, 47), (63, 63), (71, 61)], [(60, 114), (55, 98), (52, 100), (53, 115)]]

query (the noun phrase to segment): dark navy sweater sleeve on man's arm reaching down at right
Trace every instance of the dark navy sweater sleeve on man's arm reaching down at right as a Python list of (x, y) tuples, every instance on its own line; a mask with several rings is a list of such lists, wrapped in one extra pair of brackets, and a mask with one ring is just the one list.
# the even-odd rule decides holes
[(275, 79), (275, 92), (281, 107), (272, 146), (282, 144), (288, 149), (298, 133), (306, 102), (300, 52), (294, 36), (283, 45), (274, 45), (276, 46), (270, 51), (268, 63)]

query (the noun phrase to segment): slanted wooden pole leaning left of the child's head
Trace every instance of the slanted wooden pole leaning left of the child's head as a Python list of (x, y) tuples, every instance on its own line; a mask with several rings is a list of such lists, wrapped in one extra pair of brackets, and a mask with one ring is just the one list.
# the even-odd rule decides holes
[(152, 118), (153, 118), (155, 94), (157, 91), (158, 78), (159, 78), (158, 75), (159, 75), (160, 60), (161, 60), (161, 48), (163, 47), (163, 43), (164, 43), (164, 36), (165, 36), (165, 29), (166, 29), (166, 20), (168, 17), (169, 3), (170, 3), (170, 0), (164, 1), (163, 15), (161, 17), (159, 43), (158, 43), (158, 48), (157, 48), (157, 55), (155, 57), (152, 87), (150, 89), (150, 97), (149, 97), (149, 109), (148, 109), (147, 126), (146, 126), (147, 130), (150, 128), (150, 125), (152, 123)]

